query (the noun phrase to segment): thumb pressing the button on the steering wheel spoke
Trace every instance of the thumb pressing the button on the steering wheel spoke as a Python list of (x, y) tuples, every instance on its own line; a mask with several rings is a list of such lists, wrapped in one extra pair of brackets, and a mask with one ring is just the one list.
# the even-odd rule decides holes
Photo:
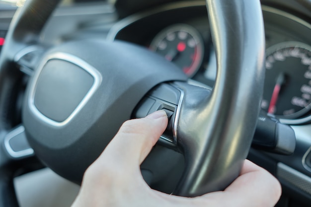
[(126, 121), (98, 158), (123, 169), (139, 166), (167, 126), (166, 113), (156, 111), (142, 119)]

